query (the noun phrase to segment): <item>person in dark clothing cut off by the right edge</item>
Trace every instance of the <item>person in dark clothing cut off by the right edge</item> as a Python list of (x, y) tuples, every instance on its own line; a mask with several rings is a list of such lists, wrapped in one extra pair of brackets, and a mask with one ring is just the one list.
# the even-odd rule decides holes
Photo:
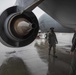
[(71, 62), (71, 71), (69, 75), (76, 75), (76, 32), (74, 33), (72, 39), (72, 47), (70, 54), (73, 55), (73, 58)]

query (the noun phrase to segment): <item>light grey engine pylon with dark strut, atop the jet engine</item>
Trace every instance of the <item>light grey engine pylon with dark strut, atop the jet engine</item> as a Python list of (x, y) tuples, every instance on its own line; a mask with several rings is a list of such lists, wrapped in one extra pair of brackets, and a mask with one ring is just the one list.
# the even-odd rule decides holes
[(32, 11), (36, 6), (44, 0), (16, 0), (19, 11)]

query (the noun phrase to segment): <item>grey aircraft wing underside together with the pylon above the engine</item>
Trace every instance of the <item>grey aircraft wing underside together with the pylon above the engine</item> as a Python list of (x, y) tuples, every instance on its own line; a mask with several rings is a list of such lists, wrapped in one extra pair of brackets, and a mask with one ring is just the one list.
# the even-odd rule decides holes
[(29, 10), (33, 10), (39, 5), (42, 10), (65, 27), (76, 27), (75, 0), (17, 0), (16, 3), (22, 7), (22, 10), (29, 7)]

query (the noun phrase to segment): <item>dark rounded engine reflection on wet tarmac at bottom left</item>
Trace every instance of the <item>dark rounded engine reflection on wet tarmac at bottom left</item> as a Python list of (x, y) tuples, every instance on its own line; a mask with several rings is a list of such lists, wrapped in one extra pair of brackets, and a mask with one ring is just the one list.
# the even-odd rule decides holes
[(10, 57), (0, 66), (0, 75), (31, 75), (31, 73), (21, 58)]

